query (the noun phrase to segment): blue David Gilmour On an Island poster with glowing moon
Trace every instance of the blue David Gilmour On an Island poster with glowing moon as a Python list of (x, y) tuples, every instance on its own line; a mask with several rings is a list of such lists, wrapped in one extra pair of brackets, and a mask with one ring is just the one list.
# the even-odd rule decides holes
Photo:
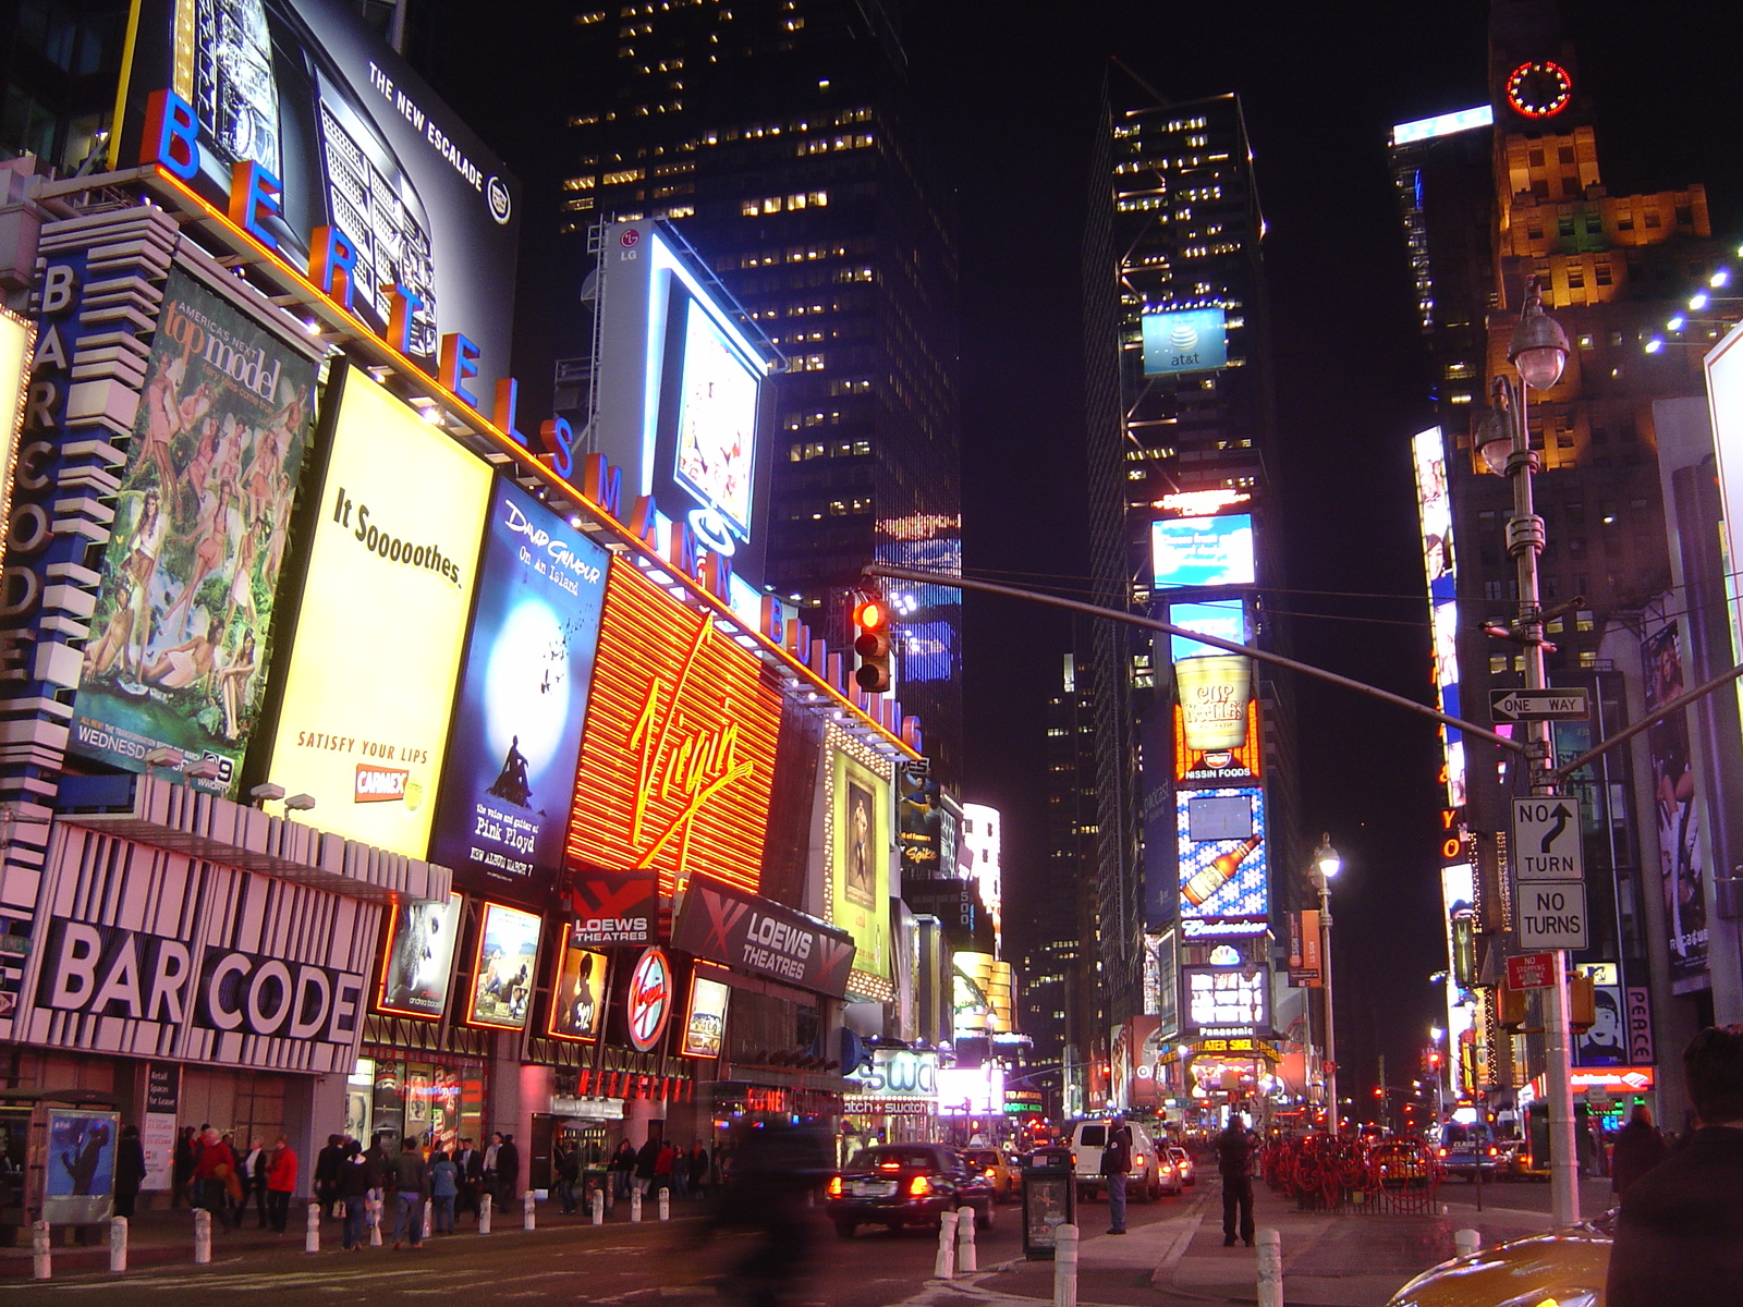
[(474, 894), (546, 906), (563, 863), (610, 554), (497, 481), (431, 859)]

